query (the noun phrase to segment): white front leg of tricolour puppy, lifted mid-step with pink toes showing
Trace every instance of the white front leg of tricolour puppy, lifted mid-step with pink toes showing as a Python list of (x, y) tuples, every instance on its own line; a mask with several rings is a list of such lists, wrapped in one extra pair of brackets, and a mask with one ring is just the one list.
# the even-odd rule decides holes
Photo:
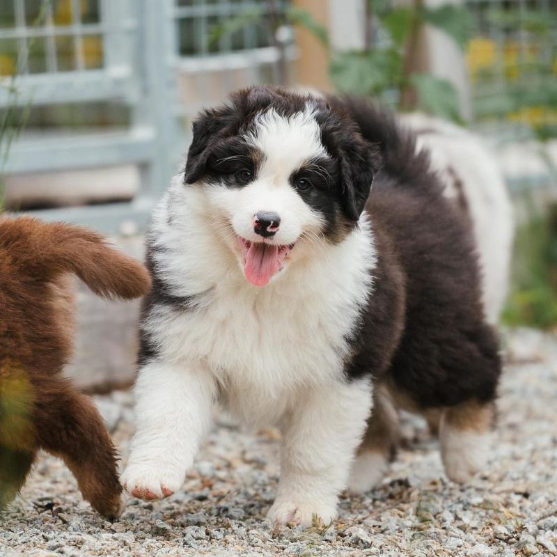
[(180, 489), (211, 421), (215, 385), (201, 362), (183, 368), (151, 361), (136, 382), (136, 433), (121, 477), (141, 499)]

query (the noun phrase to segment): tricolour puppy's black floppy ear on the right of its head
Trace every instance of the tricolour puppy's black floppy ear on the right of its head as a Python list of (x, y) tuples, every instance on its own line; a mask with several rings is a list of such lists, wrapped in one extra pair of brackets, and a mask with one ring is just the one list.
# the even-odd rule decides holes
[(357, 221), (368, 201), (373, 177), (381, 166), (381, 156), (379, 149), (361, 136), (350, 143), (339, 153), (340, 180), (346, 216)]

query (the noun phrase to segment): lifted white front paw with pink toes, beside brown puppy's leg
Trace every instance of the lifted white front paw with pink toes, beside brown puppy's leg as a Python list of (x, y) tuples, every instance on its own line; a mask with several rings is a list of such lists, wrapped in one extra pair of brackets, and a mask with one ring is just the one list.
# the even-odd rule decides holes
[(178, 491), (184, 483), (184, 473), (163, 462), (131, 463), (120, 476), (120, 482), (134, 497), (150, 501), (163, 499)]

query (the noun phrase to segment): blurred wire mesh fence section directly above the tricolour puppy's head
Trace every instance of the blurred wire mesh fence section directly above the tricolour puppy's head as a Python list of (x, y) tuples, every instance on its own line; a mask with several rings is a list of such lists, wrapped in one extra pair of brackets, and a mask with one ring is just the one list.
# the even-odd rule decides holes
[[(180, 101), (187, 116), (250, 84), (285, 81), (294, 57), (281, 0), (176, 0)], [(285, 69), (286, 68), (286, 69)]]

